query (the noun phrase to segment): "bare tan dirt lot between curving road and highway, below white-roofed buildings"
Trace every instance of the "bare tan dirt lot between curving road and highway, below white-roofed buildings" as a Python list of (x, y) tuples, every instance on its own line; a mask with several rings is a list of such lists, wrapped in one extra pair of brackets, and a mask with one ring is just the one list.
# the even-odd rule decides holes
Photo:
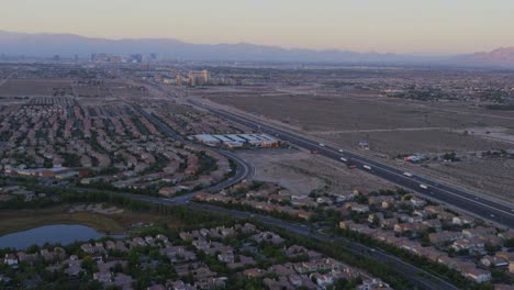
[(238, 152), (238, 156), (255, 166), (256, 180), (277, 182), (297, 194), (321, 189), (348, 192), (354, 189), (372, 191), (393, 187), (379, 178), (340, 164), (295, 149), (261, 149)]

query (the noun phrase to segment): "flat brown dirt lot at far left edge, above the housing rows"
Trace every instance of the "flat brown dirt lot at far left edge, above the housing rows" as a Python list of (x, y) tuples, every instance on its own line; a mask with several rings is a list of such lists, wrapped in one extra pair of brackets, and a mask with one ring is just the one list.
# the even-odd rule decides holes
[(0, 87), (0, 97), (54, 96), (54, 88), (69, 88), (69, 79), (9, 79)]

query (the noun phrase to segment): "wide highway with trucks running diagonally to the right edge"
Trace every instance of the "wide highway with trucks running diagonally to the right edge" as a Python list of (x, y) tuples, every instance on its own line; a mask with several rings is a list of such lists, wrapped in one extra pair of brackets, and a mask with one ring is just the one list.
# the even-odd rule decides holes
[[(283, 129), (278, 129), (247, 116), (242, 116), (227, 111), (205, 107), (199, 101), (194, 100), (190, 100), (189, 102), (193, 105), (208, 109), (221, 118), (241, 123), (248, 127), (254, 127), (264, 133), (278, 136), (279, 138), (288, 141), (297, 146), (304, 147), (310, 150), (317, 150), (320, 154), (331, 159), (340, 161), (346, 165), (355, 165), (358, 169), (379, 176), (386, 180), (414, 190), (428, 198), (443, 201), (447, 204), (474, 213), (483, 219), (514, 228), (514, 209), (505, 204), (473, 196), (457, 188), (440, 185), (437, 181), (423, 176), (404, 172), (398, 168), (368, 159), (354, 153), (339, 150), (339, 148), (331, 147), (328, 145), (322, 145), (317, 141), (311, 140), (304, 135), (284, 131)], [(342, 158), (344, 158), (346, 161), (344, 161)]]

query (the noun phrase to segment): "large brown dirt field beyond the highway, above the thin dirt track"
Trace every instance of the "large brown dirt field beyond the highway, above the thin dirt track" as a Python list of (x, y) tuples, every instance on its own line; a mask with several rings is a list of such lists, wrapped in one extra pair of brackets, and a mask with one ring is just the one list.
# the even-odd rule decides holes
[[(337, 130), (458, 129), (483, 125), (514, 127), (512, 120), (480, 116), (473, 111), (458, 114), (426, 102), (380, 97), (265, 96), (215, 93), (209, 99), (279, 120), (310, 132)], [(442, 105), (442, 104), (438, 104)], [(443, 110), (442, 110), (443, 109)], [(458, 109), (455, 108), (455, 109)]]

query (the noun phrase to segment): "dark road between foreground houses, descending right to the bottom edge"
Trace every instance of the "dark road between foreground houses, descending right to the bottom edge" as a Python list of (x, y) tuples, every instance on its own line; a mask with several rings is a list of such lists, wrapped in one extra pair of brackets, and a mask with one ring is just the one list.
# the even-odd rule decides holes
[[(253, 214), (249, 212), (228, 210), (224, 208), (219, 208), (210, 204), (197, 204), (190, 203), (188, 208), (192, 210), (209, 211), (215, 213), (231, 214), (237, 219), (253, 219), (257, 220), (264, 224), (281, 227), (288, 232), (295, 233), (298, 235), (306, 236), (316, 241), (324, 242), (335, 242), (344, 244), (345, 248), (351, 252), (355, 255), (362, 255), (373, 260), (377, 260), (381, 264), (392, 265), (394, 269), (402, 274), (407, 280), (417, 286), (421, 289), (458, 289), (451, 283), (446, 282), (445, 280), (426, 272), (423, 269), (412, 266), (394, 256), (388, 255), (384, 252), (379, 249), (373, 249), (365, 245), (354, 243), (349, 239), (343, 237), (332, 237), (325, 234), (321, 234), (315, 228), (292, 222), (282, 221), (267, 215)], [(420, 275), (423, 274), (423, 275)]]

